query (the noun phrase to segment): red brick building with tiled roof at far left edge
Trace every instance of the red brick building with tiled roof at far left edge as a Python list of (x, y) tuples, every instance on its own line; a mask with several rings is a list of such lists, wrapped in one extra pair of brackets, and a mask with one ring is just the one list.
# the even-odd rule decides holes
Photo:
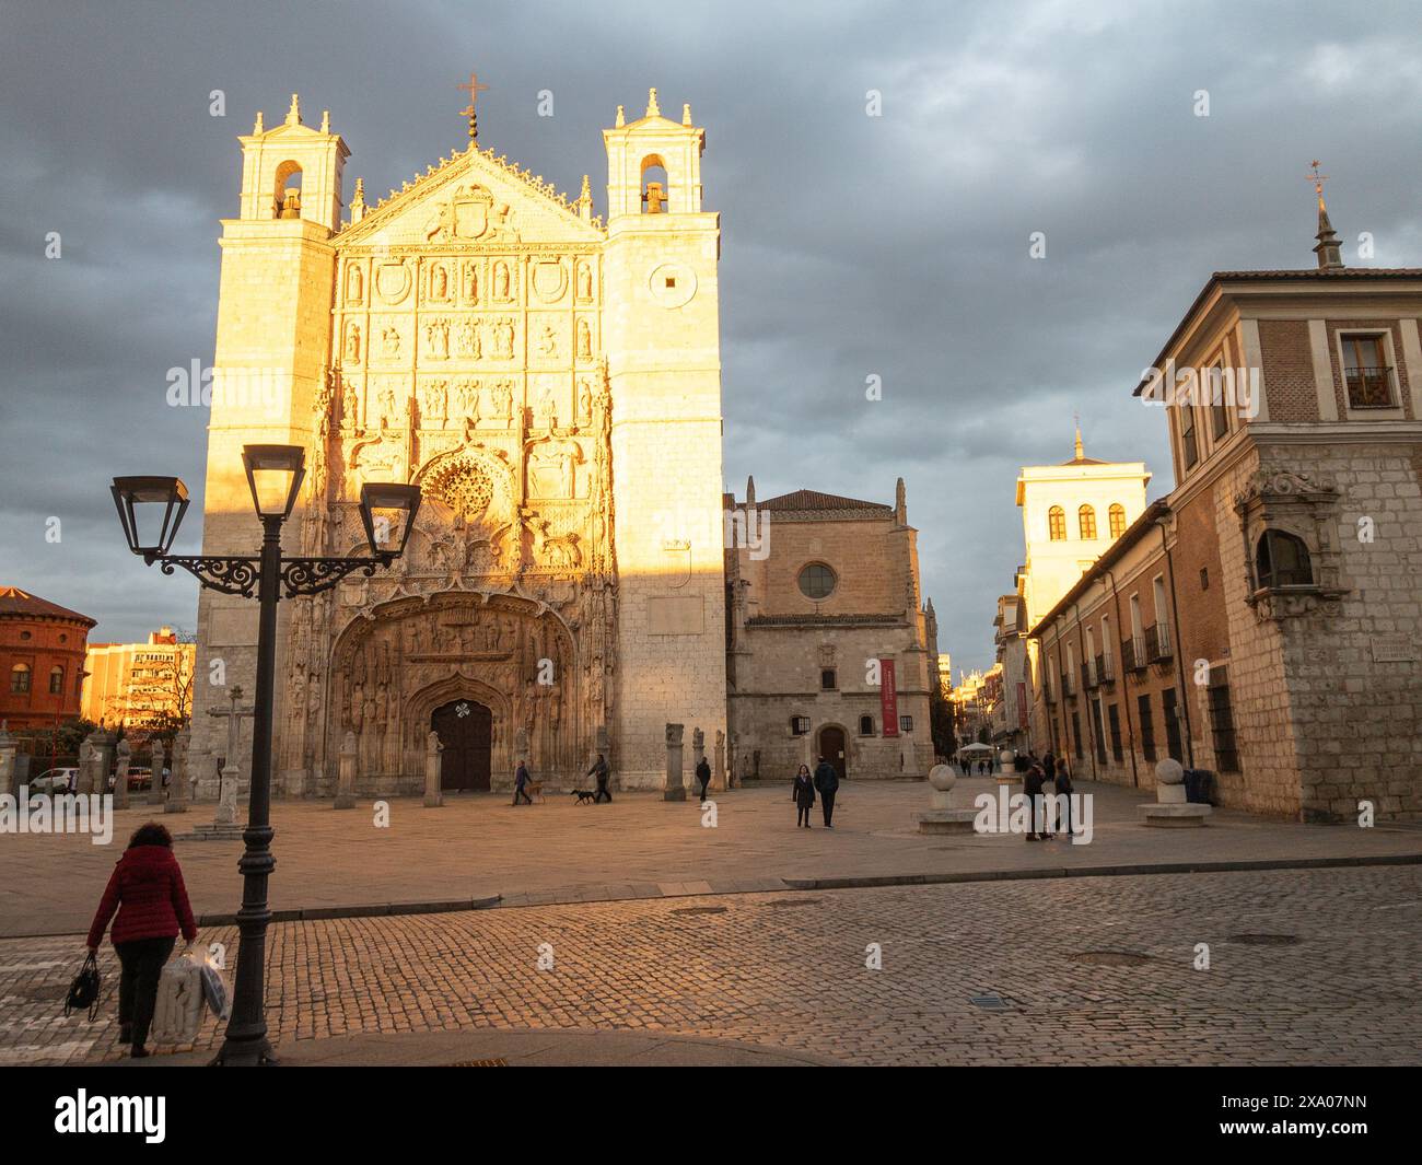
[(44, 728), (78, 717), (84, 649), (95, 622), (0, 586), (0, 721)]

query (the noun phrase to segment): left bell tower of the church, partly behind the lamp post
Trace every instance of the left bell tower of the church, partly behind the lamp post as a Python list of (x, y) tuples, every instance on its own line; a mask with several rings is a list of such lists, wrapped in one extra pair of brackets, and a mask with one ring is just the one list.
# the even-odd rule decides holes
[[(252, 555), (260, 542), (242, 447), (310, 442), (311, 407), (324, 384), (331, 350), (331, 235), (340, 226), (341, 166), (350, 152), (330, 132), (327, 115), (320, 129), (301, 124), (294, 94), (280, 125), (267, 129), (257, 114), (253, 131), (239, 142), (239, 216), (223, 219), (219, 240), (222, 280), (208, 427), (205, 555)], [(283, 532), (287, 553), (296, 552), (300, 516), (299, 504)], [(279, 674), (286, 606), (279, 607)], [(256, 642), (253, 599), (201, 592), (189, 757), (203, 795), (215, 788), (213, 758), (226, 751), (226, 727), (208, 711), (228, 706), (233, 684), (240, 684), (250, 701)], [(246, 780), (247, 745), (237, 764)]]

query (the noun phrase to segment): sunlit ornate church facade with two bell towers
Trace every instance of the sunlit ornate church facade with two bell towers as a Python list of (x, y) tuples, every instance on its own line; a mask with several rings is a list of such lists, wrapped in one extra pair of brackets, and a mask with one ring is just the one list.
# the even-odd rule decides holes
[[(249, 442), (299, 444), (286, 553), (363, 553), (368, 481), (414, 482), (402, 558), (280, 603), (276, 788), (660, 787), (665, 724), (725, 730), (720, 219), (704, 129), (603, 131), (607, 218), (471, 142), (343, 219), (344, 141), (259, 115), (223, 222), (203, 553), (252, 553)], [(650, 175), (650, 176), (648, 176)], [(653, 181), (661, 178), (663, 181)], [(256, 603), (203, 590), (191, 771), (255, 686)], [(249, 731), (249, 730), (247, 730)], [(249, 743), (239, 768), (249, 772)]]

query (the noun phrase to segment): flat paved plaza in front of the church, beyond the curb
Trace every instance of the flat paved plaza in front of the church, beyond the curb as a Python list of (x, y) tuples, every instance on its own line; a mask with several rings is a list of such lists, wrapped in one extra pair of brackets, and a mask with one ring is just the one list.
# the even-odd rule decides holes
[[(448, 902), (502, 896), (505, 906), (539, 906), (661, 893), (781, 890), (785, 879), (892, 878), (1152, 862), (1358, 858), (1422, 852), (1422, 826), (1317, 826), (1217, 811), (1206, 829), (1149, 829), (1138, 807), (1146, 794), (1079, 782), (1092, 795), (1089, 845), (1024, 845), (1020, 836), (926, 836), (923, 781), (849, 782), (835, 828), (796, 829), (788, 785), (717, 797), (705, 828), (695, 799), (619, 794), (611, 805), (574, 805), (550, 794), (513, 808), (502, 797), (451, 797), (442, 809), (392, 799), (388, 828), (368, 802), (337, 812), (330, 801), (273, 808), (276, 910)], [(971, 805), (997, 794), (991, 778), (961, 781)], [(80, 933), (128, 835), (151, 808), (118, 814), (111, 845), (81, 834), (0, 835), (0, 937)], [(210, 805), (162, 821), (175, 834), (212, 816)], [(818, 822), (818, 818), (816, 818)], [(198, 915), (230, 916), (242, 898), (242, 842), (178, 841), (178, 858)]]

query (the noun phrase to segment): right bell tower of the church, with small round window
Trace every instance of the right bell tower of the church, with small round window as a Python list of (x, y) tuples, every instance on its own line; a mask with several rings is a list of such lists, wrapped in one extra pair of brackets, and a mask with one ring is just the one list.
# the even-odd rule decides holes
[(720, 216), (701, 209), (705, 129), (623, 110), (607, 148), (604, 341), (619, 576), (613, 764), (657, 787), (665, 724), (725, 730)]

